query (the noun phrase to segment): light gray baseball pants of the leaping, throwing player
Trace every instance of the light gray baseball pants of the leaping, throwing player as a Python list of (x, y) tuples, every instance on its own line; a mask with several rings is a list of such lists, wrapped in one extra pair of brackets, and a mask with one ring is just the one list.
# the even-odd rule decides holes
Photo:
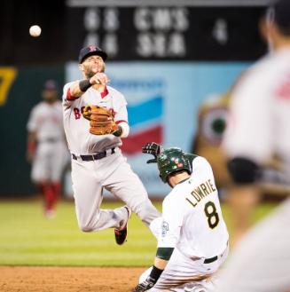
[(100, 209), (103, 188), (124, 201), (147, 226), (161, 216), (119, 148), (114, 149), (114, 154), (109, 149), (107, 156), (100, 160), (83, 162), (72, 159), (72, 181), (76, 217), (84, 232), (118, 228), (127, 219), (124, 208)]

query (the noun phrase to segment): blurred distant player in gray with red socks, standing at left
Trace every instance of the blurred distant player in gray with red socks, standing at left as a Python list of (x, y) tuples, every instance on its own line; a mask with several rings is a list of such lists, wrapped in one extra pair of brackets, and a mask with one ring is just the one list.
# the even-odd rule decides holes
[(32, 162), (31, 178), (43, 193), (44, 214), (54, 217), (68, 153), (59, 89), (54, 80), (44, 83), (42, 97), (27, 122), (27, 160)]

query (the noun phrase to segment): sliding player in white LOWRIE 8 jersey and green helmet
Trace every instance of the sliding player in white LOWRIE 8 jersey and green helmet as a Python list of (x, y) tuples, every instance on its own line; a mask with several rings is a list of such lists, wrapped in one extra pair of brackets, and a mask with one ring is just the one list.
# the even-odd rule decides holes
[(180, 148), (163, 150), (149, 143), (143, 152), (154, 154), (160, 177), (172, 191), (163, 201), (162, 217), (154, 220), (153, 267), (133, 291), (208, 291), (211, 276), (228, 255), (229, 240), (212, 169), (205, 158)]

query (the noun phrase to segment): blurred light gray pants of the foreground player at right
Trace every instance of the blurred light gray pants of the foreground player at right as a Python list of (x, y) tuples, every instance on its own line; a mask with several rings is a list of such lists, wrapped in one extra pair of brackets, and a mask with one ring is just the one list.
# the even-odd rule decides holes
[(239, 241), (213, 291), (289, 291), (289, 222), (290, 199)]

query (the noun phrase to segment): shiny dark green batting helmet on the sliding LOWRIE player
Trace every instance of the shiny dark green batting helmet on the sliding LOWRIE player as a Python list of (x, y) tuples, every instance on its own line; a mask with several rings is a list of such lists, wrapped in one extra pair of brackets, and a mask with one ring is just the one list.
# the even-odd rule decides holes
[(191, 162), (185, 157), (184, 151), (177, 147), (163, 150), (157, 157), (157, 166), (164, 183), (168, 182), (171, 173), (178, 170), (187, 170), (192, 173)]

